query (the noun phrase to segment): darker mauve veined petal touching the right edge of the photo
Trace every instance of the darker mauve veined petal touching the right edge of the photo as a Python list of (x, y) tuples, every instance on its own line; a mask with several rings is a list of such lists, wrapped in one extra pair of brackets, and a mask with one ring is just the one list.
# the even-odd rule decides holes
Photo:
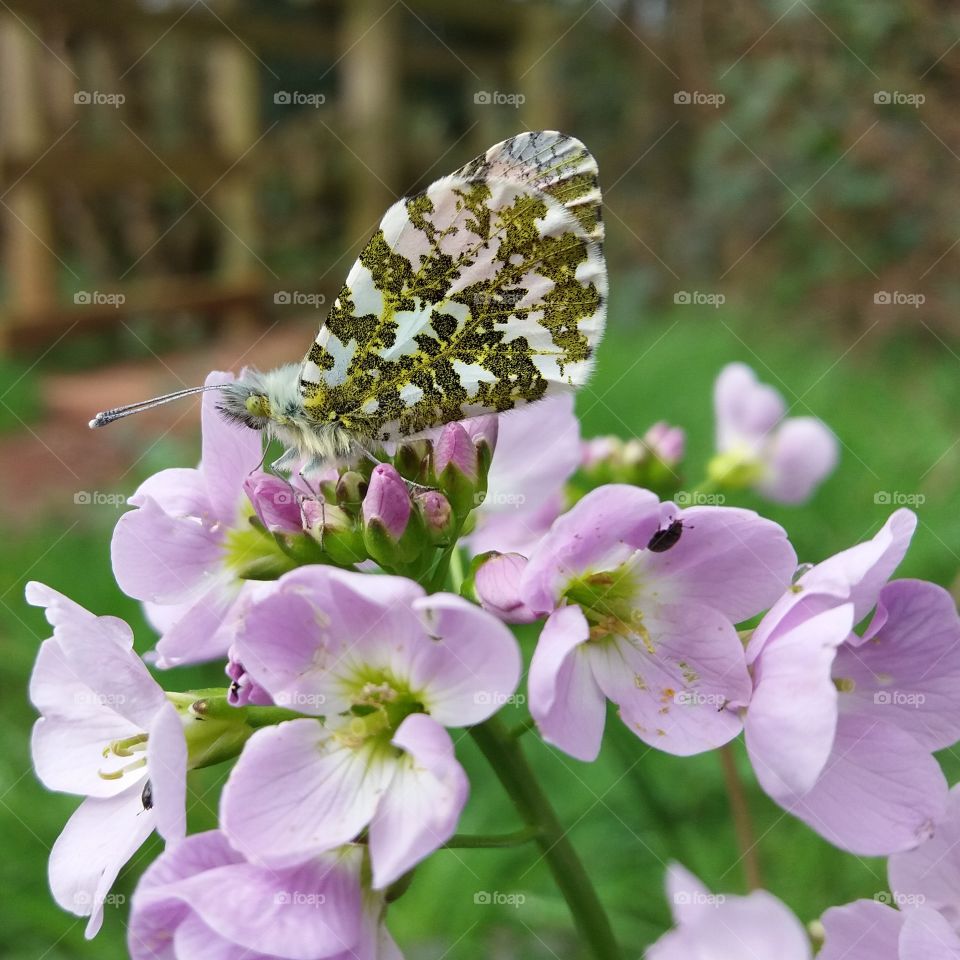
[[(844, 709), (896, 724), (928, 750), (960, 739), (960, 617), (953, 597), (922, 580), (895, 580), (880, 591), (864, 635), (840, 649)], [(960, 892), (960, 891), (958, 891)]]

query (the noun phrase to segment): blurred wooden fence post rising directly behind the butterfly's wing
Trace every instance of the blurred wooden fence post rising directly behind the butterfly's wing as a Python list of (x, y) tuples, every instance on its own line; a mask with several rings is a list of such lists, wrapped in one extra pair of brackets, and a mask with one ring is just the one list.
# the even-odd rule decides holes
[[(343, 18), (338, 126), (350, 148), (344, 158), (349, 171), (344, 242), (356, 249), (397, 199), (403, 108), (399, 18), (392, 0), (350, 0)], [(331, 149), (343, 148), (334, 141)]]

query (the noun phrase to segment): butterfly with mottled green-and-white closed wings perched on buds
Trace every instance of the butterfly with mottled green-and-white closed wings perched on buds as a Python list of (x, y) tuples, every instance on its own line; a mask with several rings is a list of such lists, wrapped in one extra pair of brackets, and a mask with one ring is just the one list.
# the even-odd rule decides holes
[(316, 466), (574, 390), (606, 315), (600, 208), (579, 140), (511, 137), (387, 210), (299, 366), (90, 426), (216, 389), (223, 416), (283, 444), (275, 466)]

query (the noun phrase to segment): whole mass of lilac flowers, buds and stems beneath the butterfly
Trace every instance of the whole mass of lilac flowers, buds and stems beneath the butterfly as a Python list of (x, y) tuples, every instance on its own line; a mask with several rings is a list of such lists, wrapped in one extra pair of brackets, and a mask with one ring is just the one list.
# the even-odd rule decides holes
[[(793, 503), (833, 469), (828, 428), (785, 417), (748, 368), (726, 368), (715, 400), (700, 492)], [(52, 626), (31, 681), (35, 767), (84, 798), (51, 888), (89, 916), (88, 935), (156, 830), (166, 849), (132, 901), (138, 960), (396, 958), (388, 904), (457, 844), (470, 793), (451, 731), (474, 737), (551, 868), (580, 871), (517, 738), (535, 729), (593, 761), (609, 701), (677, 756), (743, 731), (776, 803), (838, 847), (893, 855), (895, 892), (927, 898), (828, 911), (824, 957), (847, 956), (866, 927), (886, 950), (870, 956), (939, 956), (924, 937), (957, 940), (960, 806), (933, 754), (960, 738), (960, 618), (941, 587), (891, 580), (912, 513), (798, 566), (778, 524), (684, 491), (685, 435), (666, 423), (584, 442), (557, 397), (281, 476), (215, 403), (204, 395), (200, 465), (147, 480), (114, 532), (117, 582), (159, 634), (152, 653), (121, 621), (27, 589)], [(526, 658), (514, 624), (533, 625)], [(215, 661), (226, 678), (167, 690), (144, 659)], [(529, 718), (511, 733), (496, 715), (518, 702)], [(187, 836), (188, 772), (224, 762), (218, 829)], [(812, 956), (767, 893), (718, 901), (680, 867), (668, 890), (677, 926), (651, 960)], [(596, 904), (568, 899), (611, 955)]]

